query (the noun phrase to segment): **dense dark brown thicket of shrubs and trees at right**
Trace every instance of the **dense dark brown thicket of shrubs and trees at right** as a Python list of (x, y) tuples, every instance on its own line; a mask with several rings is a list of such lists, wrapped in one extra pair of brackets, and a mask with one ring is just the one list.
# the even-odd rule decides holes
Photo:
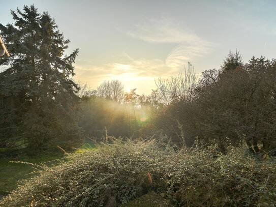
[(275, 82), (275, 60), (253, 57), (243, 64), (238, 53), (230, 53), (220, 70), (204, 71), (197, 84), (183, 92), (186, 96), (172, 99), (160, 111), (156, 126), (180, 137), (176, 142), (185, 140), (186, 146), (200, 140), (218, 143), (224, 152), (228, 145), (246, 140), (253, 152), (274, 154)]

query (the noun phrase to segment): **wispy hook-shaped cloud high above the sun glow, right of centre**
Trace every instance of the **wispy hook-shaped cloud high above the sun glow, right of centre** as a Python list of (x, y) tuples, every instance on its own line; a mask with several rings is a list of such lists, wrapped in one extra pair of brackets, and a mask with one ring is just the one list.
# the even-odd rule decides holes
[(149, 43), (174, 43), (177, 44), (166, 58), (166, 65), (171, 68), (183, 67), (189, 61), (211, 51), (213, 43), (200, 38), (187, 26), (170, 19), (149, 20), (143, 24), (135, 25), (135, 28), (127, 33), (129, 36)]

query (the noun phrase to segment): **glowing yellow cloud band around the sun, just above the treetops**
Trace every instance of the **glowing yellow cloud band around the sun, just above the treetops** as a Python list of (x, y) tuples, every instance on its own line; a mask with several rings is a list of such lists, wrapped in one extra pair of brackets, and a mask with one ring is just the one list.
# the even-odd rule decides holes
[(175, 53), (177, 52), (172, 52), (164, 61), (144, 58), (134, 60), (130, 57), (122, 60), (120, 57), (119, 62), (101, 66), (83, 67), (76, 65), (75, 79), (87, 83), (92, 88), (97, 88), (105, 80), (117, 79), (125, 84), (126, 89), (138, 88), (138, 93), (149, 94), (151, 89), (156, 88), (156, 78), (169, 77), (179, 72), (179, 67), (182, 62), (185, 62), (185, 58), (180, 58), (180, 55), (173, 55)]

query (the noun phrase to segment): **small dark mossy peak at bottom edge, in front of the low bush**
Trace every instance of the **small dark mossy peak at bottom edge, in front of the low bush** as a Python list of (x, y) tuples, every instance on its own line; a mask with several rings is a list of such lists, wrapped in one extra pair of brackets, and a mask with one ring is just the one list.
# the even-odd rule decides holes
[(120, 207), (160, 207), (173, 206), (168, 200), (154, 191), (151, 191), (129, 203), (122, 204)]

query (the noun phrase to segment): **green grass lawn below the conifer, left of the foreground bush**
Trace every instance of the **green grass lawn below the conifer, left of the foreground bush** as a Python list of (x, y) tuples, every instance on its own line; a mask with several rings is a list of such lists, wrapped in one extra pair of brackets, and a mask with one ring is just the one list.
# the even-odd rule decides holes
[[(84, 143), (75, 153), (83, 153), (88, 150), (94, 150), (96, 147), (93, 143)], [(0, 149), (1, 150), (1, 149)], [(0, 198), (9, 194), (17, 186), (17, 183), (23, 179), (30, 178), (34, 169), (32, 165), (25, 163), (13, 163), (10, 161), (21, 161), (29, 163), (45, 163), (52, 160), (63, 158), (64, 154), (60, 151), (55, 154), (40, 154), (36, 156), (18, 156), (13, 158), (0, 158)], [(48, 166), (54, 162), (46, 163)]]

